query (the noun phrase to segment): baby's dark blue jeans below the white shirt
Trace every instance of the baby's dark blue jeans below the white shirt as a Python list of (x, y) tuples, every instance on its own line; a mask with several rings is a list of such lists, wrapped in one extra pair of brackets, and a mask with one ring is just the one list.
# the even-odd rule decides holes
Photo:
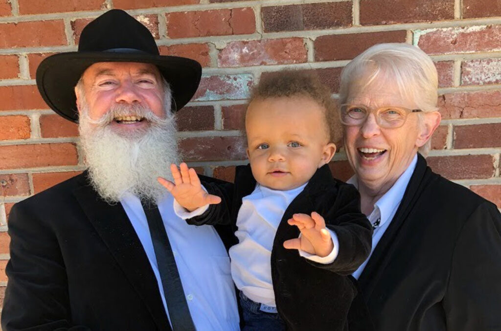
[(240, 291), (243, 313), (242, 331), (285, 331), (285, 323), (278, 313), (260, 310), (261, 303), (254, 302)]

